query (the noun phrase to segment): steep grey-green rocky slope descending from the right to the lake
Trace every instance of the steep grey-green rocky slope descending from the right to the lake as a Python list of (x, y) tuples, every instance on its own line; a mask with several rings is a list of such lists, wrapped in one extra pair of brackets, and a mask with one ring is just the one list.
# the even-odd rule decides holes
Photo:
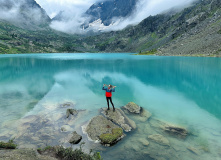
[(160, 55), (218, 56), (220, 8), (219, 0), (202, 0), (175, 15), (150, 16), (137, 26), (84, 40), (101, 52), (154, 51)]

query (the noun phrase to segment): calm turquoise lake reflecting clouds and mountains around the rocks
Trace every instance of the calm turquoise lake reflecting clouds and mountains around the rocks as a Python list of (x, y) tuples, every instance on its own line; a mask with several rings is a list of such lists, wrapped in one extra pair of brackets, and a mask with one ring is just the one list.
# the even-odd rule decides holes
[[(135, 120), (137, 129), (110, 148), (88, 141), (85, 135), (85, 151), (100, 151), (105, 160), (221, 160), (221, 58), (0, 55), (0, 141), (15, 137), (20, 148), (61, 142), (70, 147), (62, 140), (62, 134), (70, 133), (60, 133), (66, 114), (60, 105), (70, 102), (85, 111), (76, 122), (67, 122), (72, 132), (83, 134), (82, 125), (107, 107), (103, 84), (117, 86), (116, 108), (135, 102), (152, 113), (151, 119), (185, 127), (189, 135), (179, 139), (148, 129), (151, 122)], [(152, 133), (165, 136), (170, 147), (149, 140)], [(142, 138), (150, 144), (142, 145)]]

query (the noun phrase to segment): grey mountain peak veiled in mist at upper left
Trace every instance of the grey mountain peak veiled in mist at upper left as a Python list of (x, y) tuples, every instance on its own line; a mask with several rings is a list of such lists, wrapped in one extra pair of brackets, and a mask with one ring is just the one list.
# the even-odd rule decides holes
[(26, 29), (47, 26), (50, 18), (35, 0), (0, 1), (0, 20), (8, 21)]

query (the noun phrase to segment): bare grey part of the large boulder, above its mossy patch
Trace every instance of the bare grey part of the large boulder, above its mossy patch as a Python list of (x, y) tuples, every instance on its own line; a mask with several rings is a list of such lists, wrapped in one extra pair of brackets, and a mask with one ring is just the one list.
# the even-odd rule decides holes
[(117, 125), (115, 125), (110, 120), (107, 120), (103, 116), (99, 115), (94, 118), (92, 118), (88, 125), (85, 128), (88, 137), (93, 141), (99, 141), (100, 135), (104, 133), (112, 133), (112, 129), (119, 128)]

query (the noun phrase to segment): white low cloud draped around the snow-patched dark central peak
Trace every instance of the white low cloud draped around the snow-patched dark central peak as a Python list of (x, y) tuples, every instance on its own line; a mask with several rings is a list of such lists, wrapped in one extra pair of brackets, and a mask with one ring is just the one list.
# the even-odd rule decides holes
[[(182, 9), (189, 6), (193, 1), (195, 0), (140, 0), (136, 6), (134, 13), (131, 16), (127, 18), (113, 18), (114, 23), (110, 26), (104, 26), (100, 21), (97, 21), (94, 22), (91, 27), (85, 31), (82, 30), (82, 24), (85, 21), (89, 21), (90, 19), (90, 17), (83, 16), (86, 8), (84, 8), (83, 10), (72, 8), (72, 12), (70, 12), (69, 8), (69, 11), (66, 10), (66, 17), (68, 17), (68, 20), (54, 21), (52, 22), (51, 27), (62, 32), (78, 34), (86, 33), (90, 30), (93, 30), (95, 32), (117, 31), (124, 29), (128, 25), (136, 25), (150, 15), (154, 16), (174, 7)], [(73, 12), (73, 10), (75, 12)]]

